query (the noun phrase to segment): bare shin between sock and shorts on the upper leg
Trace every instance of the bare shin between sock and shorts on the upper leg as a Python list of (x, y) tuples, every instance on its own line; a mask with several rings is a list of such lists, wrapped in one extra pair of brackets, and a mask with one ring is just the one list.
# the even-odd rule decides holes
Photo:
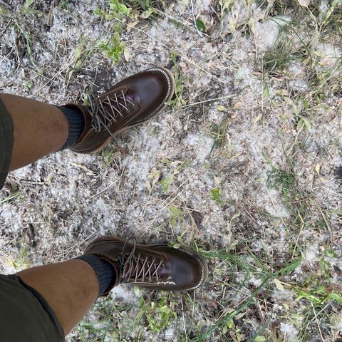
[(10, 170), (28, 165), (64, 145), (68, 121), (55, 105), (9, 94), (1, 94), (0, 98), (14, 122)]

